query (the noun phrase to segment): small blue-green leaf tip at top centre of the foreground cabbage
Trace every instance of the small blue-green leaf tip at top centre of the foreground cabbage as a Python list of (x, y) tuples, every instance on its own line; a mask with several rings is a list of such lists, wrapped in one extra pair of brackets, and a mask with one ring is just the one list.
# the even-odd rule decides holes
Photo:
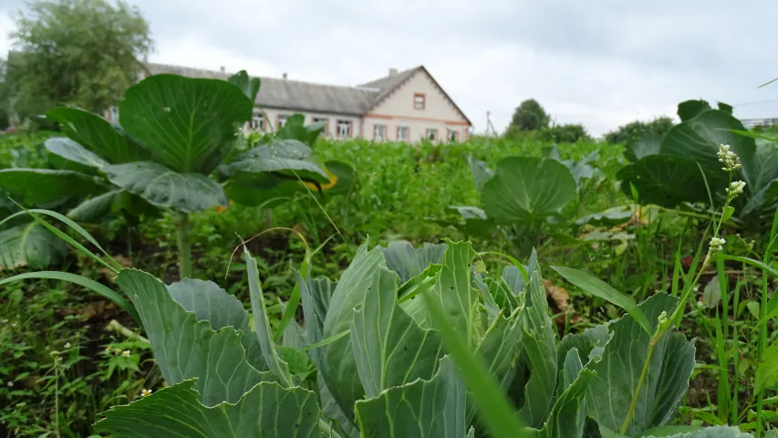
[(387, 247), (379, 246), (379, 250), (387, 268), (397, 273), (402, 284), (421, 274), (430, 264), (440, 264), (446, 244), (425, 243), (414, 248), (408, 241), (396, 240), (389, 242)]

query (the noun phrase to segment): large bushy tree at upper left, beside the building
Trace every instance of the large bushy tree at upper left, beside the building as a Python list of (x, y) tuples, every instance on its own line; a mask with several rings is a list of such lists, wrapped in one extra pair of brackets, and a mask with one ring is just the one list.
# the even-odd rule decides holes
[(56, 105), (102, 112), (138, 81), (152, 48), (149, 25), (119, 0), (33, 0), (14, 16), (2, 105), (20, 118)]

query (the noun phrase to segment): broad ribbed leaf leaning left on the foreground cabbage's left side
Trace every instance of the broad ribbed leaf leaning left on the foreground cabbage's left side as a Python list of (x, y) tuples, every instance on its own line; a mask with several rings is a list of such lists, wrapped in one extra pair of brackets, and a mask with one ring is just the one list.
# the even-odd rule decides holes
[(257, 383), (275, 381), (271, 372), (260, 372), (246, 361), (239, 332), (230, 327), (216, 331), (210, 322), (198, 320), (154, 276), (124, 269), (116, 283), (138, 309), (154, 359), (168, 384), (197, 378), (194, 388), (200, 392), (200, 401), (214, 406), (222, 401), (236, 403)]

